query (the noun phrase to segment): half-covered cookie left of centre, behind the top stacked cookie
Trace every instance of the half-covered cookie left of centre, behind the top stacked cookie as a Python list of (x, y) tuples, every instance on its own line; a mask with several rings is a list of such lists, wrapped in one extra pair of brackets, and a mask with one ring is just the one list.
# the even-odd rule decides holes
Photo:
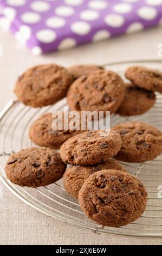
[[(55, 118), (52, 118), (51, 115), (51, 113), (44, 114), (31, 125), (29, 137), (36, 145), (60, 149), (61, 145), (67, 141), (67, 139), (83, 132), (81, 130), (81, 122), (79, 123), (79, 130), (53, 130), (52, 123)], [(64, 115), (62, 115), (62, 117), (64, 117)], [(69, 118), (69, 121), (70, 120), (72, 119)], [(65, 124), (66, 122), (63, 121), (63, 127)]]

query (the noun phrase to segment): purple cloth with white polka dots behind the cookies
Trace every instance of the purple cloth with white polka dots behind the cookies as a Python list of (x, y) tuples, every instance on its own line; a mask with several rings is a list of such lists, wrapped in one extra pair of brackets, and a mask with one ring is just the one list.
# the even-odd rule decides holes
[(34, 54), (162, 23), (162, 0), (0, 0), (0, 25)]

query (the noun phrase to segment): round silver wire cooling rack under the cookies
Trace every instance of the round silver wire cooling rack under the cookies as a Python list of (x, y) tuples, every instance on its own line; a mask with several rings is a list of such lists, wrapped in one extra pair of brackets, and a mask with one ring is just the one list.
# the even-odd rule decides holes
[[(129, 65), (146, 65), (162, 69), (161, 62), (139, 60), (105, 64), (106, 69), (118, 72), (124, 77)], [(102, 227), (83, 214), (76, 199), (69, 196), (63, 188), (62, 180), (45, 187), (28, 188), (12, 184), (4, 172), (8, 156), (22, 148), (33, 147), (28, 137), (28, 130), (33, 121), (41, 114), (61, 110), (66, 106), (66, 99), (53, 106), (30, 108), (11, 100), (0, 113), (0, 179), (9, 190), (24, 203), (54, 219), (76, 227), (92, 230), (94, 233), (116, 234), (124, 236), (162, 237), (162, 156), (144, 163), (122, 163), (131, 175), (138, 177), (146, 186), (148, 201), (144, 214), (135, 222), (121, 228)], [(157, 93), (155, 106), (145, 114), (122, 118), (111, 115), (111, 126), (128, 120), (139, 120), (162, 128), (162, 94)], [(160, 192), (161, 191), (161, 192)]]

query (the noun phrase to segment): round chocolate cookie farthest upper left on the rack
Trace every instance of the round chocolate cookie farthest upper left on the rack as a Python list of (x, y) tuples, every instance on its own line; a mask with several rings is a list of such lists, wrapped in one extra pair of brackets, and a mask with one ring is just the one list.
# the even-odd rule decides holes
[(62, 66), (39, 65), (18, 78), (14, 92), (25, 105), (43, 107), (66, 96), (72, 81), (72, 76)]

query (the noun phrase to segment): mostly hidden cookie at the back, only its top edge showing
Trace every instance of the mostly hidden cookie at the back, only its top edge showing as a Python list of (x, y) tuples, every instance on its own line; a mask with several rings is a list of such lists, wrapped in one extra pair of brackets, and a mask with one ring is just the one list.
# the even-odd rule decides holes
[(102, 70), (102, 66), (98, 65), (74, 65), (68, 68), (69, 74), (74, 77), (74, 80), (80, 76), (88, 75), (92, 72)]

